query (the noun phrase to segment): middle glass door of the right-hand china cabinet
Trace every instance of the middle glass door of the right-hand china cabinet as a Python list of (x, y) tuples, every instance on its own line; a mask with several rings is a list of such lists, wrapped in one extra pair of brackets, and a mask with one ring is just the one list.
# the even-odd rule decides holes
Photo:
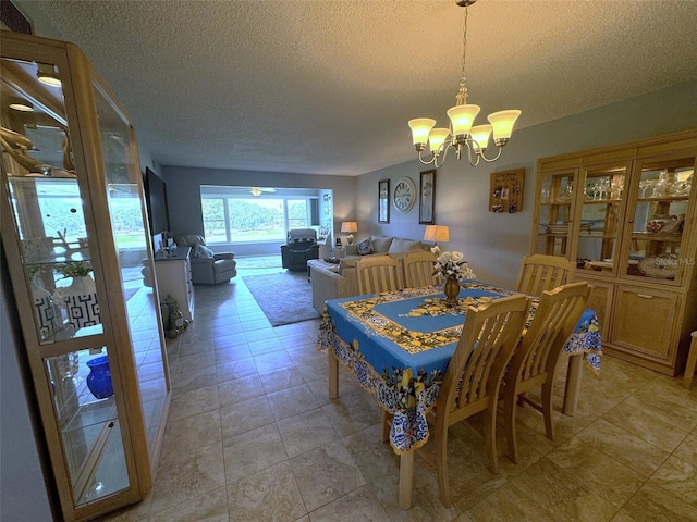
[(579, 269), (616, 272), (620, 223), (624, 212), (627, 164), (592, 167), (584, 173), (576, 250)]

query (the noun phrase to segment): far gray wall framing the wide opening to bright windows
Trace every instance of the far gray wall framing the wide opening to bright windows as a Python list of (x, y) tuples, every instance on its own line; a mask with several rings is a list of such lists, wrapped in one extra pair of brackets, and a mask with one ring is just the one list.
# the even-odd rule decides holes
[[(314, 188), (333, 190), (334, 231), (341, 222), (353, 215), (356, 178), (351, 176), (317, 176), (310, 174), (286, 174), (276, 172), (224, 171), (215, 169), (189, 169), (182, 166), (161, 167), (167, 183), (167, 201), (170, 212), (170, 228), (173, 234), (204, 234), (200, 210), (200, 186), (259, 186), (285, 188)], [(320, 197), (321, 197), (320, 192)], [(323, 202), (320, 201), (320, 206)], [(235, 256), (280, 253), (278, 244), (213, 246), (213, 250), (232, 250)]]

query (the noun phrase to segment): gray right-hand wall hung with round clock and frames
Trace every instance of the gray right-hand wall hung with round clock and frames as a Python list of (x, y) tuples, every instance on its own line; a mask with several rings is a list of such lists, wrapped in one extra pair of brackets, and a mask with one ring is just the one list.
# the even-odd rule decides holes
[[(457, 161), (451, 151), (436, 175), (436, 223), (450, 227), (451, 240), (442, 245), (443, 249), (462, 251), (479, 279), (513, 286), (521, 258), (529, 249), (537, 160), (697, 128), (696, 94), (697, 82), (689, 82), (522, 128), (513, 133), (501, 159), (476, 169), (465, 159)], [(357, 237), (376, 234), (423, 238), (426, 225), (418, 224), (418, 204), (407, 214), (392, 207), (390, 224), (377, 223), (378, 181), (389, 178), (393, 187), (400, 177), (408, 176), (418, 189), (419, 173), (429, 169), (414, 160), (359, 176)], [(489, 212), (490, 173), (510, 169), (525, 169), (523, 209), (515, 214)]]

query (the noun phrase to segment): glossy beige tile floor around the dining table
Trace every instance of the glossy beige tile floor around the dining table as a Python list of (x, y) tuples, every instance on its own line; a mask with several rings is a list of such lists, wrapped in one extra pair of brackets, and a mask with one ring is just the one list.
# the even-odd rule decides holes
[(453, 507), (439, 500), (427, 445), (413, 507), (401, 510), (399, 458), (380, 442), (375, 401), (343, 370), (329, 399), (318, 322), (270, 327), (241, 277), (252, 270), (196, 287), (195, 321), (168, 341), (172, 403), (155, 487), (102, 520), (697, 521), (697, 389), (608, 356), (599, 375), (585, 370), (577, 414), (555, 415), (554, 442), (523, 408), (521, 462), (500, 437), (492, 475), (479, 420), (455, 425)]

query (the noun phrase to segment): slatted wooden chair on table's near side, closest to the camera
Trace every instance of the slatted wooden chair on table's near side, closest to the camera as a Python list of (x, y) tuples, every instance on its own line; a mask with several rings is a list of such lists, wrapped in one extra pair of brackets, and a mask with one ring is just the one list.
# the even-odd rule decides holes
[[(485, 452), (492, 473), (499, 472), (496, 419), (499, 387), (521, 338), (529, 308), (523, 295), (469, 307), (455, 352), (430, 413), (436, 444), (436, 470), (443, 506), (451, 506), (448, 480), (448, 428), (484, 411)], [(384, 426), (383, 426), (384, 430)]]

